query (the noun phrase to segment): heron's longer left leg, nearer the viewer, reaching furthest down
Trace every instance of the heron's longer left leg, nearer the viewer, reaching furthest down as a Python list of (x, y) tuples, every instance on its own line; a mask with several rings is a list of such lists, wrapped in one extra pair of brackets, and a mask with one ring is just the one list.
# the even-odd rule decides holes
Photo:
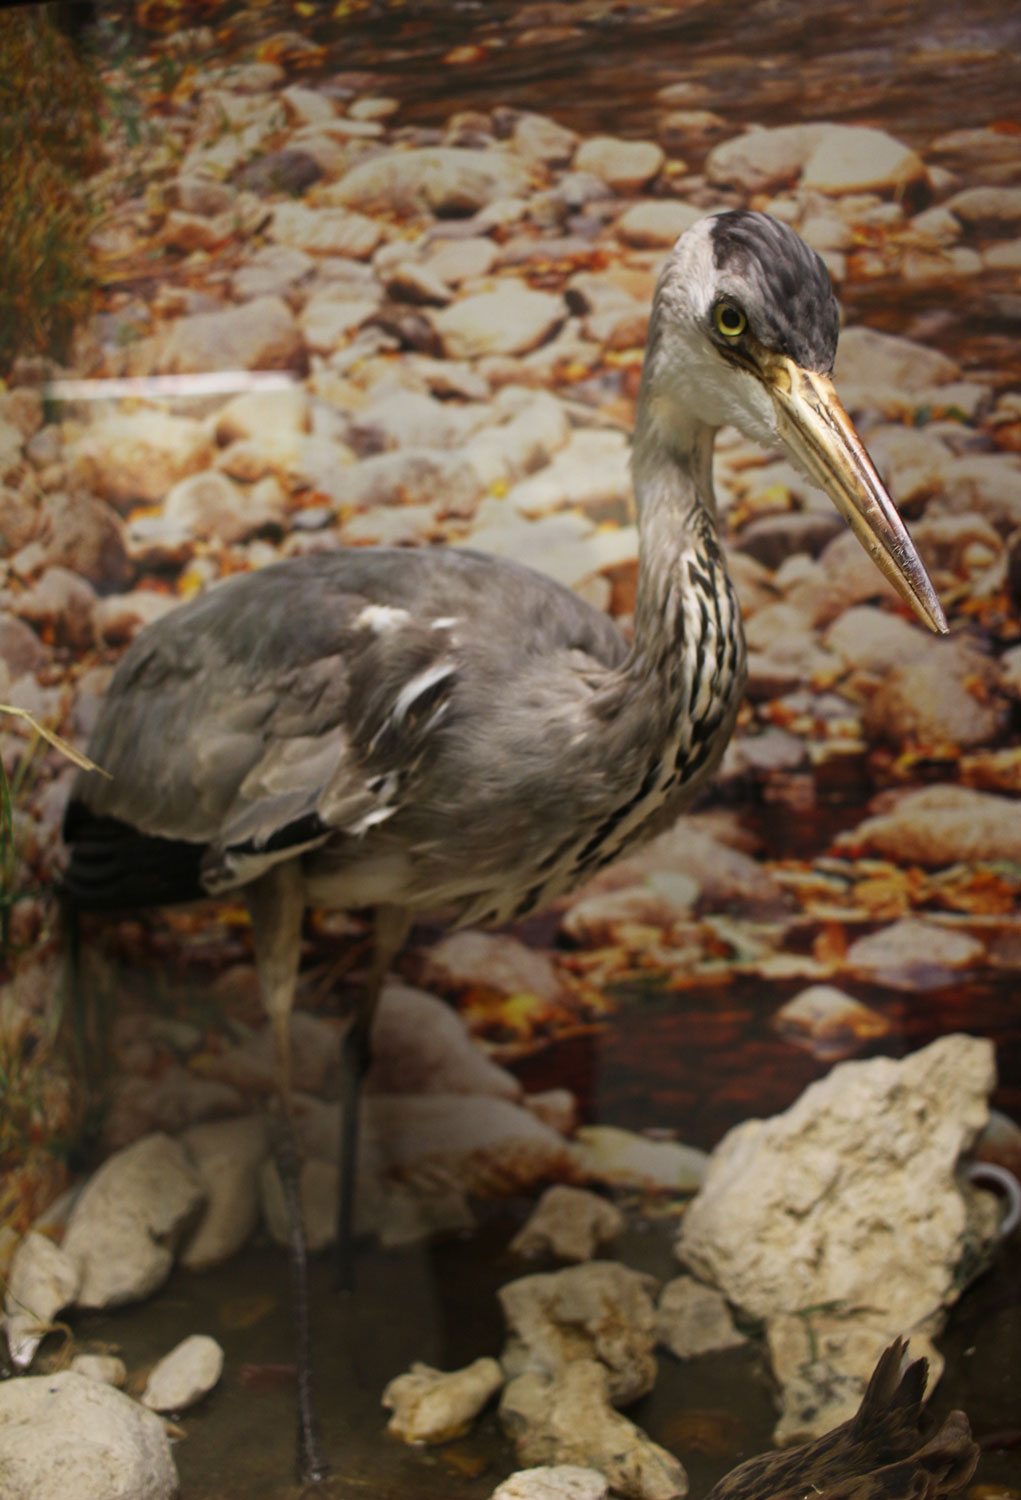
[(298, 1480), (309, 1485), (325, 1479), (330, 1466), (322, 1454), (312, 1389), (309, 1250), (301, 1220), (301, 1150), (294, 1131), (291, 1095), (291, 1008), (298, 980), (301, 918), (304, 915), (300, 866), (297, 861), (273, 866), (246, 888), (244, 896), (252, 918), (259, 994), (270, 1017), (276, 1050), (276, 1082), (282, 1106), (276, 1134), (276, 1166), (288, 1214), (298, 1380), (297, 1468)]

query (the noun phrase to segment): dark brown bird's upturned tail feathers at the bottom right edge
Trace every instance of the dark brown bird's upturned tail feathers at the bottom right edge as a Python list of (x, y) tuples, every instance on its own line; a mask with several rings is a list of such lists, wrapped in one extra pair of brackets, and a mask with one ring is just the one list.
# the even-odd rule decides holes
[(883, 1353), (849, 1422), (783, 1452), (762, 1454), (714, 1485), (706, 1500), (943, 1500), (979, 1461), (964, 1412), (921, 1430), (928, 1362), (907, 1364), (907, 1341)]

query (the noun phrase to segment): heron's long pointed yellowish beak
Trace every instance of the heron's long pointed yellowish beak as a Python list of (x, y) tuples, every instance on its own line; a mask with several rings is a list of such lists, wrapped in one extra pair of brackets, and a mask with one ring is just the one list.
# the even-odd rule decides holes
[(945, 634), (946, 616), (933, 580), (832, 381), (778, 357), (759, 374), (774, 399), (780, 436), (795, 460), (826, 490), (879, 570), (919, 620)]

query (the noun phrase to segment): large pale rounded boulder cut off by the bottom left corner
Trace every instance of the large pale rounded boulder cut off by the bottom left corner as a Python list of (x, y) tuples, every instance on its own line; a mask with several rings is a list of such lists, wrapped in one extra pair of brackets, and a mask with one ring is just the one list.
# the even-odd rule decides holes
[(70, 1370), (0, 1383), (3, 1500), (172, 1500), (169, 1437), (112, 1386)]

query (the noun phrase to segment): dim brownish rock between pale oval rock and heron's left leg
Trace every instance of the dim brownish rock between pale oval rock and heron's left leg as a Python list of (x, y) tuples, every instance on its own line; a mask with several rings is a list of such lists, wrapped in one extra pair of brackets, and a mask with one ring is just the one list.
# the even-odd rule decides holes
[(270, 1130), (262, 1114), (211, 1120), (184, 1131), (181, 1146), (205, 1190), (205, 1208), (180, 1258), (189, 1270), (204, 1270), (234, 1256), (258, 1222)]

